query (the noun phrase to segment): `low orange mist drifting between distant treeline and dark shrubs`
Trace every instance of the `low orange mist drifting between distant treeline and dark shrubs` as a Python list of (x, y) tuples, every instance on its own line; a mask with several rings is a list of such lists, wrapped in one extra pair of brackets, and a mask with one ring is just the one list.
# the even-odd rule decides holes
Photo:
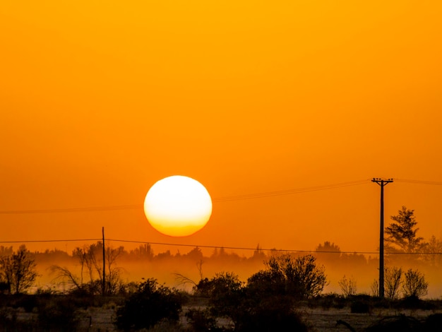
[[(97, 248), (100, 249), (100, 242)], [(177, 287), (191, 291), (194, 283), (201, 278), (212, 278), (216, 273), (232, 272), (239, 276), (240, 280), (246, 280), (265, 268), (265, 261), (272, 255), (280, 254), (279, 251), (263, 251), (256, 249), (250, 256), (240, 256), (233, 251), (214, 249), (211, 254), (204, 255), (200, 248), (189, 250), (186, 254), (179, 251), (171, 254), (169, 250), (154, 254), (149, 244), (136, 249), (126, 251), (123, 247), (108, 249), (117, 254), (112, 263), (112, 269), (118, 271), (119, 278), (123, 283), (140, 282), (147, 278), (155, 278), (161, 284), (168, 287)], [(75, 251), (68, 254), (65, 251), (52, 250), (32, 253), (37, 263), (39, 278), (33, 290), (52, 288), (56, 290), (68, 290), (72, 285), (68, 280), (57, 278), (57, 273), (51, 271), (51, 266), (61, 266), (71, 271), (72, 275), (81, 283), (88, 283), (90, 278), (96, 278), (82, 264)], [(293, 253), (295, 256), (303, 256), (305, 253)], [(342, 294), (340, 280), (351, 279), (356, 288), (356, 293), (374, 295), (374, 282), (379, 277), (378, 257), (364, 256), (363, 254), (345, 254), (339, 251), (333, 253), (313, 252), (316, 263), (325, 267), (328, 283), (324, 293)], [(102, 266), (100, 250), (96, 254), (97, 266)], [(109, 263), (109, 262), (107, 262)], [(429, 283), (426, 298), (436, 299), (442, 295), (442, 261), (437, 256), (424, 257), (418, 255), (388, 255), (386, 254), (385, 266), (402, 268), (407, 271), (412, 268), (424, 275)], [(108, 268), (108, 266), (107, 266)], [(376, 288), (376, 287), (375, 287)]]

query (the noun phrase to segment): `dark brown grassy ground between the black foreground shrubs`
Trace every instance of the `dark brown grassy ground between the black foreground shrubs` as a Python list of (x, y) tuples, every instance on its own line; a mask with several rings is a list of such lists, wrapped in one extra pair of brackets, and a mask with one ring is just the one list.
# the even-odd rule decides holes
[[(5, 300), (5, 299), (2, 299)], [(54, 321), (76, 321), (76, 328), (68, 331), (117, 331), (113, 321), (117, 307), (122, 303), (121, 297), (107, 297), (95, 299), (73, 300), (67, 297), (46, 297), (36, 299), (32, 295), (23, 297), (21, 300), (8, 299), (2, 301), (4, 307), (0, 309), (0, 327), (2, 331), (43, 331), (35, 322), (42, 319)], [(364, 302), (365, 301), (365, 302)], [(310, 300), (299, 302), (296, 311), (309, 326), (311, 332), (325, 331), (350, 331), (345, 324), (337, 324), (337, 321), (345, 321), (350, 324), (355, 331), (365, 331), (369, 326), (378, 323), (388, 317), (411, 317), (411, 320), (424, 322), (426, 317), (431, 314), (442, 314), (442, 303), (440, 301), (421, 302), (420, 308), (394, 308), (388, 306), (376, 306), (376, 304), (366, 302), (368, 307), (359, 307), (366, 309), (366, 312), (354, 312), (354, 304), (351, 300), (340, 299), (338, 302), (325, 298), (319, 300)], [(189, 309), (205, 309), (207, 302), (205, 299), (191, 297), (189, 302), (183, 306), (179, 326), (171, 324), (160, 324), (151, 328), (150, 331), (193, 331), (186, 320), (186, 312)], [(42, 306), (47, 312), (46, 316), (39, 314), (39, 307)], [(353, 311), (353, 312), (352, 312)], [(73, 316), (71, 316), (71, 314)], [(43, 321), (44, 323), (44, 321)], [(232, 328), (232, 321), (229, 319), (219, 319), (218, 324), (225, 328)], [(61, 331), (57, 326), (52, 326), (44, 331)], [(63, 330), (66, 331), (66, 330)], [(378, 330), (376, 330), (378, 331)], [(440, 330), (431, 330), (440, 331)]]

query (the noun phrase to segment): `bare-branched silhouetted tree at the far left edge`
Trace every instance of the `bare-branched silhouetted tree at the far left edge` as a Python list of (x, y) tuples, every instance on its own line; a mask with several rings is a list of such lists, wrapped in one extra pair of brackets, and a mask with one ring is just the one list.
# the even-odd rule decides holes
[(21, 245), (17, 252), (9, 256), (0, 257), (0, 273), (12, 294), (21, 294), (28, 290), (35, 282), (38, 274), (35, 271), (37, 264), (30, 256), (30, 251)]

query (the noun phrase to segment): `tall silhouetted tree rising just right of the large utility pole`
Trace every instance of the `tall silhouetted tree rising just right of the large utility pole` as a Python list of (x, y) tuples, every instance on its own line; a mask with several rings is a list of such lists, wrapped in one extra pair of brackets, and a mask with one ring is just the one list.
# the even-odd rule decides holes
[(414, 210), (408, 210), (405, 206), (399, 211), (398, 215), (390, 217), (393, 220), (388, 227), (386, 227), (386, 251), (414, 253), (422, 249), (422, 237), (417, 237), (416, 233), (419, 228), (416, 218), (414, 217)]

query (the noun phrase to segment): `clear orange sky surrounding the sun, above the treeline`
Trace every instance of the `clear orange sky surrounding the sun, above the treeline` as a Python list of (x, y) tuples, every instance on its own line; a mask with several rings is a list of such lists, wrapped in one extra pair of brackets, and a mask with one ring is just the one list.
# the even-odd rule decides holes
[[(441, 17), (440, 1), (1, 1), (0, 211), (142, 206), (173, 174), (213, 198), (367, 181), (215, 201), (185, 238), (140, 208), (0, 214), (0, 240), (104, 226), (114, 239), (376, 250), (369, 179), (442, 182)], [(420, 235), (441, 237), (441, 198), (389, 184), (386, 223), (405, 205)]]

